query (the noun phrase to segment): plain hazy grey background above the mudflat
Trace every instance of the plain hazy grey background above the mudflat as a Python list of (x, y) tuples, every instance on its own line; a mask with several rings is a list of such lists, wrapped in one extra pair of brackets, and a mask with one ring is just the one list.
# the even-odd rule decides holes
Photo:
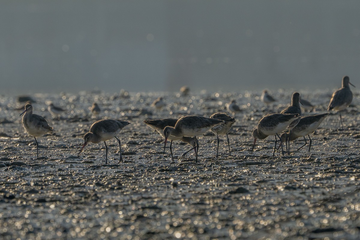
[(0, 5), (1, 93), (360, 87), (360, 1)]

